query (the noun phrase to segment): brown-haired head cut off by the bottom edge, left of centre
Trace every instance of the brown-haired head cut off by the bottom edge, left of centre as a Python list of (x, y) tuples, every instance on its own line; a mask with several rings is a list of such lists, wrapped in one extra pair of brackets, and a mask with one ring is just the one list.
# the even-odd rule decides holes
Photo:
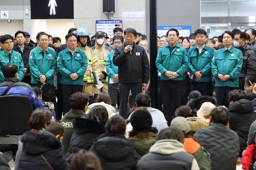
[(85, 149), (79, 150), (72, 158), (69, 170), (102, 170), (99, 158)]

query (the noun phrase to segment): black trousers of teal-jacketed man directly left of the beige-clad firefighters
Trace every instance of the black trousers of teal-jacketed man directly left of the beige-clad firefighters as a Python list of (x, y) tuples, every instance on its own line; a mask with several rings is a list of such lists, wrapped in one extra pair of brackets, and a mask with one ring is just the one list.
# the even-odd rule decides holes
[(83, 85), (61, 85), (62, 102), (63, 102), (63, 116), (71, 109), (69, 98), (71, 94), (76, 92), (83, 92)]

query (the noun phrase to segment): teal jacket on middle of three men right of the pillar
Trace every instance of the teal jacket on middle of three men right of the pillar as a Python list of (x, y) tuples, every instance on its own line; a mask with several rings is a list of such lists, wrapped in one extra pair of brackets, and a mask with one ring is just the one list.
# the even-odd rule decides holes
[[(214, 55), (213, 48), (204, 45), (202, 52), (199, 54), (197, 45), (188, 50), (188, 71), (194, 75), (196, 71), (202, 70), (202, 79), (200, 82), (212, 82), (212, 58)], [(196, 82), (190, 79), (190, 82)]]

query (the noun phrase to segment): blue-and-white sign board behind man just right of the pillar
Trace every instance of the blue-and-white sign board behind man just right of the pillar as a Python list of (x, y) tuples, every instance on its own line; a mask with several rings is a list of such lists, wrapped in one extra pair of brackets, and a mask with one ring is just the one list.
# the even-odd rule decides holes
[(175, 28), (179, 31), (179, 36), (188, 37), (191, 34), (191, 26), (157, 26), (157, 35), (166, 35), (167, 30)]

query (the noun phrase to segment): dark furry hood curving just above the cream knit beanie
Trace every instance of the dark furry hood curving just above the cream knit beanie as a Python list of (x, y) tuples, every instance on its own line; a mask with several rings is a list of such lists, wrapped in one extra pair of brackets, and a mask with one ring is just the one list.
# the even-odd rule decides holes
[(204, 102), (211, 102), (215, 106), (217, 103), (216, 99), (213, 96), (202, 95), (196, 99), (190, 99), (187, 103), (187, 106), (189, 106), (191, 109), (199, 110)]

